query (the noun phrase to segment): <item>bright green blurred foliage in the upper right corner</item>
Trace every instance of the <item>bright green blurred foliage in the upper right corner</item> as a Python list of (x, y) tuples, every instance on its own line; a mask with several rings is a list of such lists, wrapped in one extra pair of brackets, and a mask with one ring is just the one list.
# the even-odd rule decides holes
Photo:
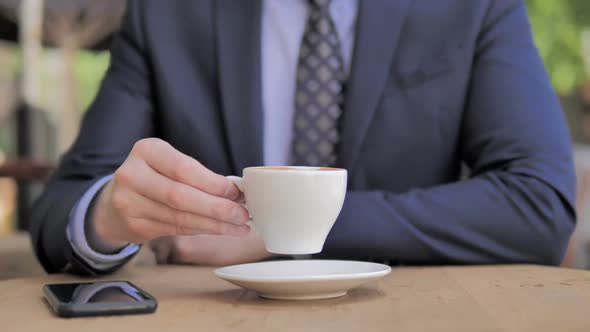
[(582, 32), (590, 28), (590, 0), (526, 0), (535, 41), (553, 85), (568, 94), (588, 79)]

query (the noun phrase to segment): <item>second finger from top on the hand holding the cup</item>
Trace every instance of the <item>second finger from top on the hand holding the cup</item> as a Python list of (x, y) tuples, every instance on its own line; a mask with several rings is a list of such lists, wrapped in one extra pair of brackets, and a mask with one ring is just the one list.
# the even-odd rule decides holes
[(248, 211), (241, 204), (175, 182), (155, 172), (141, 160), (121, 167), (115, 173), (114, 181), (123, 188), (128, 187), (175, 210), (233, 224), (244, 224), (249, 219)]

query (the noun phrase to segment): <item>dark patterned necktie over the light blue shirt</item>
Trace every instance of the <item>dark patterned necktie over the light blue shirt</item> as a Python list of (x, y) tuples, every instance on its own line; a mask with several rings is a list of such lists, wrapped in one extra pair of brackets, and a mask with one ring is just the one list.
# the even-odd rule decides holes
[(310, 15), (297, 67), (292, 165), (336, 163), (346, 74), (330, 1), (309, 0)]

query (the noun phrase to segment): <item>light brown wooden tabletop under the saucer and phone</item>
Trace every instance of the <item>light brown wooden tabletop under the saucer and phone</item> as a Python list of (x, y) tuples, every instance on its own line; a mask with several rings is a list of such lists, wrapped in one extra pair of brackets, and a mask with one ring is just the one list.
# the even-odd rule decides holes
[(539, 266), (395, 268), (333, 300), (263, 300), (211, 268), (128, 267), (159, 300), (155, 314), (55, 317), (42, 299), (54, 275), (0, 282), (2, 331), (590, 331), (590, 273)]

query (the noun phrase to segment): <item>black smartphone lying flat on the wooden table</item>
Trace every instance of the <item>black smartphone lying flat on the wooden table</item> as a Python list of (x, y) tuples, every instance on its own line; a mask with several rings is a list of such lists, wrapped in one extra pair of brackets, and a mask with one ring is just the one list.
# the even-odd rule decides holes
[(156, 299), (128, 281), (98, 281), (43, 286), (45, 299), (61, 317), (144, 314)]

